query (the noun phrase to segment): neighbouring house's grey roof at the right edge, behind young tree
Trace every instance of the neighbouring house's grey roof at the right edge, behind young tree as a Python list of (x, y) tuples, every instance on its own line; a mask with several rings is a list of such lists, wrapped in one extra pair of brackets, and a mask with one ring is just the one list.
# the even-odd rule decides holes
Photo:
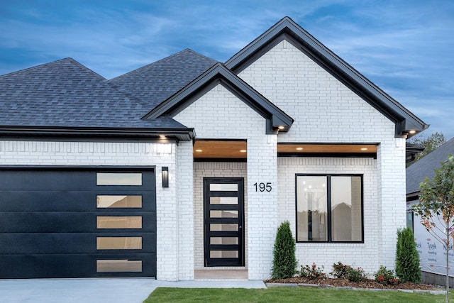
[(432, 180), (434, 170), (441, 166), (441, 162), (448, 160), (448, 155), (454, 155), (454, 138), (406, 168), (407, 197), (418, 199), (419, 184), (426, 177)]

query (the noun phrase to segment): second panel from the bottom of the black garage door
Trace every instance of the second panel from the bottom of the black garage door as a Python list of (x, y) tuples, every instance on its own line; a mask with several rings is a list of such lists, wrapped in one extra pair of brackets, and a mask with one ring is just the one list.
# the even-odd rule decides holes
[[(97, 238), (131, 238), (122, 241), (123, 249), (97, 249)], [(135, 242), (140, 238), (140, 249)], [(132, 242), (132, 243), (131, 243)], [(138, 253), (155, 250), (155, 233), (4, 233), (0, 234), (0, 254), (52, 253)], [(28, 253), (24, 253), (28, 252)], [(1, 272), (0, 272), (1, 274)]]

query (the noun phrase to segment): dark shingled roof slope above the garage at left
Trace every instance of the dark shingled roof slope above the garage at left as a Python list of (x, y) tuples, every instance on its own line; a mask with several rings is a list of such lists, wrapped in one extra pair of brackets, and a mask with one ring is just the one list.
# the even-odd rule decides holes
[(66, 58), (0, 76), (0, 125), (93, 128), (184, 128), (114, 89), (104, 77)]

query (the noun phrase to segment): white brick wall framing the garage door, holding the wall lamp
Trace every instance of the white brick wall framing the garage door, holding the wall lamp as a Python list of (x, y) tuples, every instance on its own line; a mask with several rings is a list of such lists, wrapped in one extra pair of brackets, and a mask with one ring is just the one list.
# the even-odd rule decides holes
[[(175, 155), (173, 143), (0, 141), (0, 165), (155, 165), (157, 279), (160, 280), (178, 280)], [(165, 189), (161, 186), (162, 166), (168, 166), (170, 171), (170, 187)]]

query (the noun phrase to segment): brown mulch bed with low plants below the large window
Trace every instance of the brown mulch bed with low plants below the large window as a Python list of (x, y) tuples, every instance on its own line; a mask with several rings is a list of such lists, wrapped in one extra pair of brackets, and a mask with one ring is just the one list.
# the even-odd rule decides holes
[(415, 284), (415, 283), (399, 283), (397, 285), (382, 285), (375, 280), (365, 280), (363, 282), (350, 282), (346, 279), (335, 279), (331, 277), (319, 278), (310, 280), (306, 277), (291, 277), (288, 279), (270, 279), (265, 280), (265, 283), (302, 283), (302, 284), (318, 284), (331, 285), (333, 287), (358, 287), (372, 289), (397, 289), (397, 290), (440, 290), (436, 285)]

